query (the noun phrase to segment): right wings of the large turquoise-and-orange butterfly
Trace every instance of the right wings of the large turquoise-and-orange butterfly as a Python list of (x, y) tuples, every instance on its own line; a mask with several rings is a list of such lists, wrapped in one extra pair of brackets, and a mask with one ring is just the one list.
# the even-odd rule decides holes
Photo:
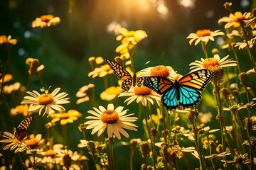
[(179, 104), (184, 108), (196, 105), (201, 101), (201, 91), (213, 78), (213, 72), (208, 69), (201, 69), (196, 72), (186, 74), (179, 79)]

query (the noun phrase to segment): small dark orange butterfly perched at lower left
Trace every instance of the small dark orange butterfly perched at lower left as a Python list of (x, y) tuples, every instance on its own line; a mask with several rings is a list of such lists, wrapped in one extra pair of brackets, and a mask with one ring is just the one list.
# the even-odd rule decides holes
[(14, 132), (15, 137), (18, 139), (23, 139), (28, 135), (27, 129), (33, 122), (33, 117), (28, 117), (21, 121), (21, 123), (17, 126), (16, 131)]

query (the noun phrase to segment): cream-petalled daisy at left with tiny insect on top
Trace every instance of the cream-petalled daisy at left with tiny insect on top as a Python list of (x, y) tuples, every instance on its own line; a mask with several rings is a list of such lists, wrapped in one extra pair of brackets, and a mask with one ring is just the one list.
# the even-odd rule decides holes
[(41, 89), (41, 91), (44, 91), (45, 93), (39, 94), (37, 91), (27, 91), (27, 94), (30, 94), (31, 96), (25, 96), (25, 100), (22, 101), (21, 104), (31, 104), (32, 106), (28, 111), (39, 111), (39, 115), (41, 115), (45, 108), (43, 115), (50, 115), (50, 113), (54, 112), (53, 110), (65, 111), (65, 108), (60, 106), (60, 104), (70, 103), (70, 101), (68, 101), (69, 98), (65, 98), (65, 96), (68, 96), (67, 93), (62, 92), (58, 94), (60, 88), (54, 89), (51, 94), (49, 94), (46, 89)]

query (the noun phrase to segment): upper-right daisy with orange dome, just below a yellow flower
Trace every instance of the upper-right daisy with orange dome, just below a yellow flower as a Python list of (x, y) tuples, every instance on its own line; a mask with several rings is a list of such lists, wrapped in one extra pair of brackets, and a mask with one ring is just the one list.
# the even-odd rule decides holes
[(218, 35), (224, 35), (224, 33), (221, 32), (220, 30), (211, 31), (211, 30), (204, 29), (204, 30), (198, 30), (196, 31), (196, 33), (189, 34), (187, 39), (191, 39), (189, 40), (190, 45), (192, 45), (194, 41), (195, 41), (194, 45), (198, 45), (200, 41), (202, 42), (208, 42), (209, 40), (214, 41), (213, 37)]

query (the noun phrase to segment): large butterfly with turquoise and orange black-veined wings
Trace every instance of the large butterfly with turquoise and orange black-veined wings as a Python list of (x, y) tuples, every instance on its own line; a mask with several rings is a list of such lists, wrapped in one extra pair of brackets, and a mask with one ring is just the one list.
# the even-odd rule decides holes
[(209, 69), (200, 69), (175, 81), (164, 77), (147, 77), (144, 86), (162, 94), (161, 103), (167, 109), (176, 109), (179, 106), (188, 108), (201, 101), (201, 91), (212, 78), (213, 72)]

